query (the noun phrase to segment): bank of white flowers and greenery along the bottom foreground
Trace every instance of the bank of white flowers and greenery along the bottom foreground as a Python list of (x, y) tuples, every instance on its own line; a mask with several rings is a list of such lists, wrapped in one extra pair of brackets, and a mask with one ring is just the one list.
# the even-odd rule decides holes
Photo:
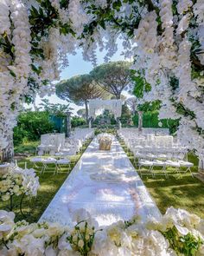
[(204, 255), (204, 220), (185, 210), (169, 207), (160, 220), (143, 223), (134, 216), (100, 229), (89, 213), (80, 213), (77, 224), (60, 226), (15, 223), (14, 213), (0, 211), (0, 255)]

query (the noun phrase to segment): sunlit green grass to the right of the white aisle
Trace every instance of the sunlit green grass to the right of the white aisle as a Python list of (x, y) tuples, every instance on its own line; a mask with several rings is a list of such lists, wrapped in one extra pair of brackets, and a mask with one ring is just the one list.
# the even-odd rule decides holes
[[(124, 142), (120, 141), (124, 151), (127, 148)], [(130, 154), (129, 158), (133, 163), (133, 155)], [(188, 161), (194, 163), (191, 168), (193, 173), (198, 172), (198, 159), (194, 154), (188, 155)], [(136, 167), (136, 166), (135, 166)], [(136, 167), (137, 169), (137, 167)], [(142, 174), (147, 174), (146, 169), (142, 169)], [(156, 177), (152, 178), (151, 174), (143, 175), (142, 180), (144, 185), (148, 188), (150, 195), (156, 201), (157, 207), (161, 213), (165, 213), (166, 209), (170, 206), (175, 208), (183, 208), (190, 213), (196, 213), (201, 218), (204, 218), (204, 184), (197, 178), (193, 178), (188, 172), (186, 174), (178, 175), (175, 173), (174, 168), (168, 168), (169, 179), (161, 175), (161, 171), (156, 169)]]

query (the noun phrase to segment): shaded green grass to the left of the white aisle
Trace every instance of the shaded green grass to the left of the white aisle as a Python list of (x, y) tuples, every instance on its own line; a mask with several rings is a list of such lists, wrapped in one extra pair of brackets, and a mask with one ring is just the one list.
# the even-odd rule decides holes
[[(86, 150), (87, 146), (91, 141), (87, 141), (83, 146), (82, 154)], [(34, 143), (31, 143), (34, 145)], [(18, 149), (25, 147), (22, 145)], [(19, 149), (19, 151), (20, 151)], [(25, 217), (22, 216), (19, 210), (21, 196), (14, 198), (14, 212), (16, 213), (16, 220), (27, 220), (30, 223), (39, 220), (41, 214), (48, 207), (49, 202), (54, 198), (54, 195), (57, 193), (63, 182), (67, 179), (68, 174), (70, 174), (72, 168), (75, 166), (77, 161), (79, 161), (81, 154), (77, 154), (71, 158), (71, 167), (65, 166), (61, 168), (59, 174), (54, 174), (54, 165), (49, 165), (48, 172), (45, 171), (44, 174), (41, 174), (41, 165), (39, 164), (38, 168), (35, 167), (36, 174), (39, 176), (40, 188), (38, 190), (36, 198), (29, 200), (27, 197), (23, 199), (22, 203), (22, 213)], [(33, 167), (33, 164), (29, 161), (29, 158), (24, 158), (21, 161), (18, 161), (19, 167), (24, 167), (25, 162), (27, 162), (27, 167)], [(8, 210), (10, 207), (10, 201), (0, 201), (0, 209)]]

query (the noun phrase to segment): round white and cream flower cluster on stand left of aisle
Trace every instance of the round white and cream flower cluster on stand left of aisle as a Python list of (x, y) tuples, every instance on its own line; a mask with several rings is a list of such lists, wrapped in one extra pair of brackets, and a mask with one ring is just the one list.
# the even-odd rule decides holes
[(23, 170), (19, 167), (12, 167), (10, 172), (0, 176), (0, 198), (7, 201), (13, 195), (36, 196), (40, 186), (38, 180), (34, 169)]

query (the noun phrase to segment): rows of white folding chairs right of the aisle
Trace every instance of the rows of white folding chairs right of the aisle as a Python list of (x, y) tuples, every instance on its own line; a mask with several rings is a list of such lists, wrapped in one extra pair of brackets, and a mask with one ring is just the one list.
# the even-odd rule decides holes
[[(155, 175), (154, 167), (161, 167), (163, 174), (168, 177), (167, 167), (174, 167), (177, 173), (189, 171), (193, 176), (190, 168), (194, 164), (188, 161), (188, 149), (182, 147), (179, 142), (175, 142), (173, 137), (167, 135), (159, 138), (163, 139), (163, 141), (165, 139), (170, 141), (169, 147), (159, 147), (156, 144), (155, 135), (138, 135), (126, 130), (119, 131), (118, 135), (124, 141), (128, 151), (134, 155), (134, 162), (138, 166), (138, 171), (141, 175), (143, 175), (143, 172), (141, 172), (142, 167), (147, 168), (148, 174), (152, 174), (152, 176)], [(141, 141), (145, 140), (147, 143), (144, 146)], [(184, 159), (187, 160), (184, 161)], [(183, 170), (183, 168), (185, 169)]]

